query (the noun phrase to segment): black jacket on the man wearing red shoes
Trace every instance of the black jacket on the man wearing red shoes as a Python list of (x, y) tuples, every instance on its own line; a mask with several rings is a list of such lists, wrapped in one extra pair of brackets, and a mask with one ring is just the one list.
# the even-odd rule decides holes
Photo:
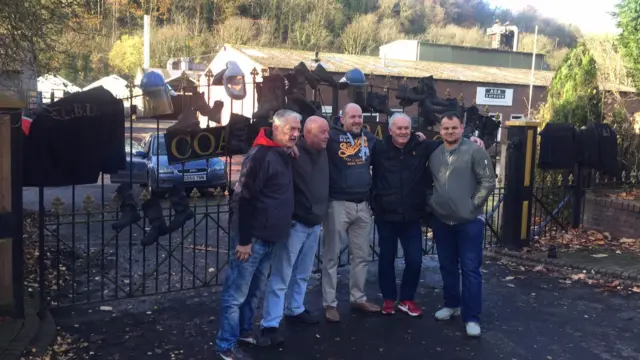
[(427, 162), (440, 144), (442, 141), (420, 141), (415, 135), (402, 149), (393, 144), (391, 135), (378, 141), (372, 156), (372, 207), (377, 218), (393, 222), (422, 218), (426, 194), (433, 187)]

